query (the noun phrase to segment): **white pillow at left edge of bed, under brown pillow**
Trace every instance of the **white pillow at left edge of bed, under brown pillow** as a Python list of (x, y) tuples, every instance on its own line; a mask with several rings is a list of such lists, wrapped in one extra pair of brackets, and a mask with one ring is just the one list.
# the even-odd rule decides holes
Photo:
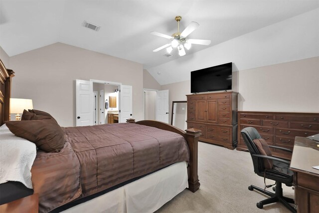
[(35, 156), (34, 143), (16, 137), (5, 124), (0, 127), (0, 184), (18, 181), (32, 189), (31, 167)]

